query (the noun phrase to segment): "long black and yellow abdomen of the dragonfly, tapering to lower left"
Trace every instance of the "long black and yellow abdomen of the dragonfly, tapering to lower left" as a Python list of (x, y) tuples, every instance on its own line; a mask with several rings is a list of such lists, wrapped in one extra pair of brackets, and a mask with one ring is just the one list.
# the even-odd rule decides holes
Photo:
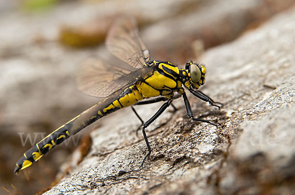
[(143, 97), (135, 85), (128, 87), (121, 95), (117, 93), (105, 98), (94, 106), (90, 107), (71, 121), (60, 126), (54, 132), (46, 136), (35, 146), (32, 146), (16, 163), (14, 173), (17, 173), (32, 163), (39, 160), (44, 154), (61, 144), (64, 140), (75, 135), (89, 124), (97, 121), (103, 116), (109, 115), (118, 109), (128, 107)]

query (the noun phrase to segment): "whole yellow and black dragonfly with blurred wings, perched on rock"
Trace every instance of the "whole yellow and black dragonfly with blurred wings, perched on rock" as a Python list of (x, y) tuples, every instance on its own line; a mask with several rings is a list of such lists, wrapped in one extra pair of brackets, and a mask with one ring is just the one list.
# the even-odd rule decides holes
[(99, 58), (86, 60), (81, 65), (77, 76), (79, 90), (94, 97), (104, 97), (80, 115), (66, 122), (36, 145), (26, 151), (17, 161), (14, 173), (28, 168), (43, 155), (75, 135), (89, 124), (121, 108), (164, 101), (158, 111), (147, 121), (136, 113), (143, 122), (142, 133), (148, 148), (141, 166), (151, 153), (145, 129), (154, 122), (178, 97), (182, 97), (187, 115), (191, 120), (207, 122), (194, 118), (184, 88), (199, 99), (220, 108), (219, 102), (199, 91), (205, 83), (206, 68), (204, 65), (189, 61), (184, 69), (170, 62), (149, 59), (149, 51), (139, 36), (134, 18), (121, 17), (111, 26), (106, 38), (107, 49), (116, 57), (127, 63), (128, 68), (114, 66)]

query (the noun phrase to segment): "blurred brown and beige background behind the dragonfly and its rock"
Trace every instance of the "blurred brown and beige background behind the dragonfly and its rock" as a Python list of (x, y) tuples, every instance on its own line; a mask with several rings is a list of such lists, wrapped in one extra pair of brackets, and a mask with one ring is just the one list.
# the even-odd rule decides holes
[(109, 56), (104, 40), (114, 19), (134, 16), (150, 58), (182, 67), (293, 4), (294, 0), (0, 0), (0, 194), (35, 194), (56, 181), (73, 143), (56, 147), (19, 176), (13, 175), (15, 163), (42, 135), (99, 101), (77, 90), (75, 76), (88, 56)]

